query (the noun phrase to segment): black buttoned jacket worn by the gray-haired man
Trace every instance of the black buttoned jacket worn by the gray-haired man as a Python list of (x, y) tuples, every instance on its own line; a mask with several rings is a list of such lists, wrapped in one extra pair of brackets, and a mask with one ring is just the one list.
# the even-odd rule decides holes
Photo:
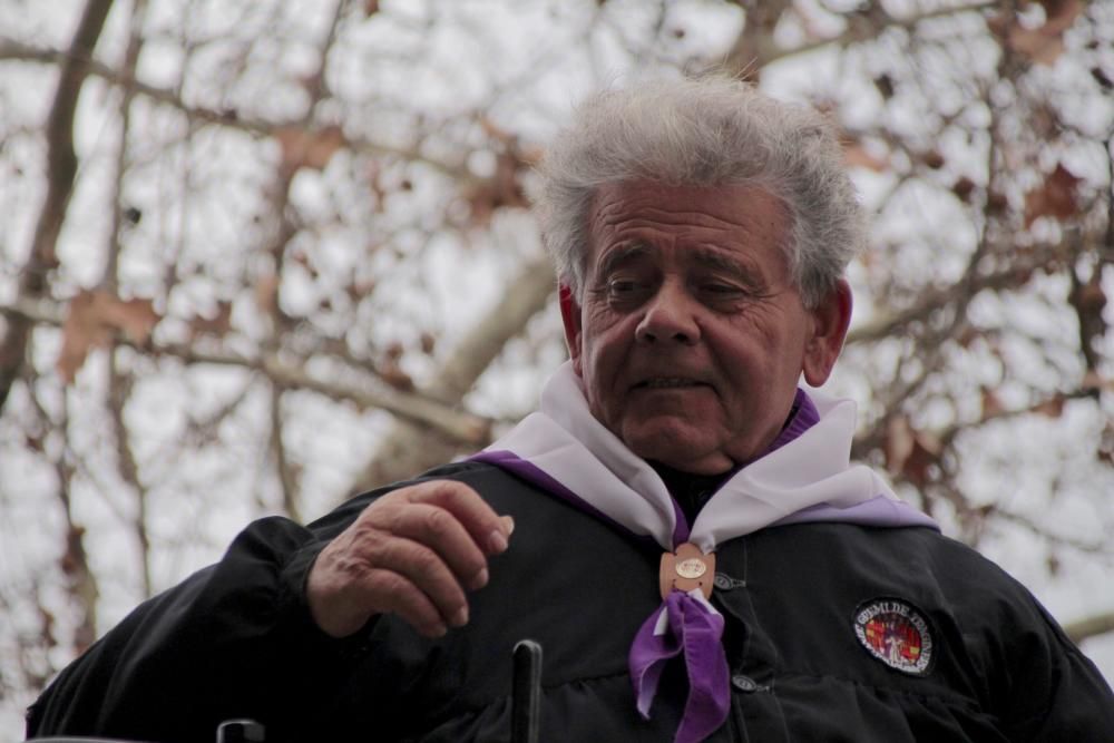
[[(661, 549), (488, 465), (426, 478), (467, 482), (515, 517), (468, 626), (428, 641), (383, 616), (335, 641), (313, 625), (303, 584), (314, 557), (383, 491), (310, 527), (262, 519), (66, 668), (32, 706), (29, 734), (202, 742), (222, 720), (253, 717), (270, 742), (507, 741), (511, 648), (534, 638), (543, 741), (672, 741), (683, 675), (666, 672), (646, 722), (627, 673), (661, 603)], [(716, 568), (733, 691), (710, 740), (1114, 740), (1114, 697), (1094, 665), (1025, 588), (931, 529), (773, 527), (721, 545)], [(857, 636), (863, 607), (885, 600), (924, 619), (924, 673), (891, 667)]]

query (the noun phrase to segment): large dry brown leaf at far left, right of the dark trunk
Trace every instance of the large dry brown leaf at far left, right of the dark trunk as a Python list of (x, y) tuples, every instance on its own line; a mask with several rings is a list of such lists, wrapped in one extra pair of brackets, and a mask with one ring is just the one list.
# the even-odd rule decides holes
[(116, 332), (133, 343), (146, 343), (159, 320), (150, 300), (121, 300), (101, 290), (79, 293), (70, 300), (62, 323), (59, 375), (66, 384), (72, 382), (89, 351), (107, 346)]

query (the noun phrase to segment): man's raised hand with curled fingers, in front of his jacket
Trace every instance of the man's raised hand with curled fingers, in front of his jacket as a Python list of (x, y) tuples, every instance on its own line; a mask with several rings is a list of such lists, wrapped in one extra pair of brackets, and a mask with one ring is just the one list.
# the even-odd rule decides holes
[(514, 529), (460, 482), (402, 488), (369, 506), (330, 542), (307, 581), (310, 609), (333, 636), (392, 612), (437, 637), (468, 622), (466, 590), (487, 584), (487, 557)]

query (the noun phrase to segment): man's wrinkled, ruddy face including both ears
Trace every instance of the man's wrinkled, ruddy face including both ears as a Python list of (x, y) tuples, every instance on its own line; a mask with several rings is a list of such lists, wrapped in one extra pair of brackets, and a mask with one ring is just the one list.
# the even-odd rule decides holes
[(636, 454), (712, 475), (780, 432), (802, 373), (822, 384), (846, 283), (805, 310), (781, 202), (749, 186), (600, 187), (580, 304), (561, 304), (592, 413)]

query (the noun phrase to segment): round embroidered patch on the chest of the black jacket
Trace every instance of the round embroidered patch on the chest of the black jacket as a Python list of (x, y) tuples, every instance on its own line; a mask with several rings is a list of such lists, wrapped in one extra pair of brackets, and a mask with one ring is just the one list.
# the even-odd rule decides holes
[(932, 667), (932, 633), (925, 615), (900, 598), (872, 598), (854, 610), (854, 635), (891, 668), (925, 676)]

